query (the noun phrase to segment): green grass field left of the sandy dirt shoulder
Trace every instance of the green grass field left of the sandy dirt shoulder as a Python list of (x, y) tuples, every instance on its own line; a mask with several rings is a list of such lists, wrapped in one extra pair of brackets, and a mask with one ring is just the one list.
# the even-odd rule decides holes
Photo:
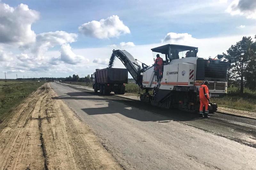
[(0, 123), (25, 97), (43, 84), (36, 81), (0, 81)]

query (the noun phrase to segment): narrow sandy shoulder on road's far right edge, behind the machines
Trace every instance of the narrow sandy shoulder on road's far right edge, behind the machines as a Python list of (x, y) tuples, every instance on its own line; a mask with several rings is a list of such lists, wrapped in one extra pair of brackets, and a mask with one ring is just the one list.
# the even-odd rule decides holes
[[(82, 86), (82, 85), (71, 85), (71, 84), (66, 84), (66, 83), (62, 83), (62, 84), (93, 91), (93, 89), (91, 87), (86, 87), (86, 86)], [(115, 94), (115, 96), (123, 97), (123, 98), (127, 98), (127, 99), (132, 99), (132, 100), (140, 100), (140, 97), (138, 97), (136, 94), (132, 94), (132, 93), (125, 93), (124, 95), (116, 95)], [(226, 108), (226, 107), (218, 107), (218, 112), (219, 113), (224, 113), (224, 114), (229, 114), (229, 115), (236, 115), (236, 116), (242, 116), (242, 117), (256, 119), (256, 113), (255, 112), (229, 109), (229, 108)]]

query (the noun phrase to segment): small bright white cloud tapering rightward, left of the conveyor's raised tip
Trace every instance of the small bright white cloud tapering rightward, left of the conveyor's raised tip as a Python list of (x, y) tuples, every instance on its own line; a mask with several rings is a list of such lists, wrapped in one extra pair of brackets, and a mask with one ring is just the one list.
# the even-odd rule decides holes
[(68, 64), (89, 63), (89, 59), (76, 55), (69, 44), (63, 44), (60, 50), (60, 60)]

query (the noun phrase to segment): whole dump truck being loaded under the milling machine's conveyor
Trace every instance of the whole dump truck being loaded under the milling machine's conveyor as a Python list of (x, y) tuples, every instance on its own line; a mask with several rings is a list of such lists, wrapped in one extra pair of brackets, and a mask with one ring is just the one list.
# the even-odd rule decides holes
[(94, 92), (100, 90), (100, 94), (108, 95), (125, 93), (125, 83), (128, 83), (128, 70), (120, 68), (96, 69), (92, 74)]

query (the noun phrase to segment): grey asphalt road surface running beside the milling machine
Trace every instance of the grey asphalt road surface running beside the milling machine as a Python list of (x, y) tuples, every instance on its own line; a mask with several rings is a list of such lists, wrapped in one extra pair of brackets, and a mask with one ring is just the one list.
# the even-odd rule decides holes
[(256, 120), (153, 107), (51, 83), (125, 169), (255, 169)]

